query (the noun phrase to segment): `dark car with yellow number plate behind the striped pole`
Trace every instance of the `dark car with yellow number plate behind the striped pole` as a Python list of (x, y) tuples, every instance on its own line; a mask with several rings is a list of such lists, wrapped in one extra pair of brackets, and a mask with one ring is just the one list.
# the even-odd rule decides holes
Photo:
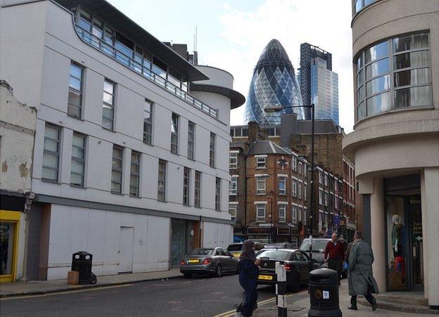
[(261, 259), (260, 274), (257, 277), (258, 284), (276, 284), (276, 261), (285, 265), (288, 290), (297, 292), (300, 285), (309, 282), (310, 259), (305, 252), (297, 249), (265, 249), (258, 252), (256, 257)]

